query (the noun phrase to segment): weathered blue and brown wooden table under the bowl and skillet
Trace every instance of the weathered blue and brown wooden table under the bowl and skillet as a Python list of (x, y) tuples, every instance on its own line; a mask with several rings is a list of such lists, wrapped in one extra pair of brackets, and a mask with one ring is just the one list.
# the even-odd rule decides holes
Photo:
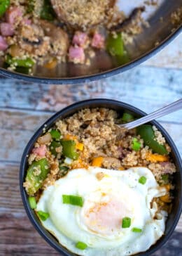
[[(182, 35), (137, 68), (97, 82), (75, 85), (0, 81), (0, 255), (59, 255), (31, 226), (20, 198), (18, 172), (25, 145), (55, 111), (86, 98), (114, 98), (150, 113), (182, 95)], [(182, 153), (181, 111), (160, 123)], [(154, 255), (182, 255), (182, 219)], [(153, 256), (154, 256), (153, 255)], [(98, 255), (99, 256), (99, 255)]]

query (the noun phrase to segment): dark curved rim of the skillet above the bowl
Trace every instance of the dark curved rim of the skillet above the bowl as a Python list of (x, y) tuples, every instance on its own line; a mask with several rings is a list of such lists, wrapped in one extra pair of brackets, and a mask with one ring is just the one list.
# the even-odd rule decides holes
[(118, 75), (121, 72), (125, 72), (130, 70), (130, 68), (134, 68), (135, 66), (143, 63), (148, 58), (151, 58), (156, 53), (161, 51), (165, 46), (167, 46), (171, 41), (173, 41), (180, 33), (182, 32), (182, 24), (179, 25), (174, 32), (169, 34), (165, 39), (163, 39), (160, 44), (153, 47), (151, 50), (147, 51), (146, 53), (142, 54), (138, 58), (130, 61), (130, 63), (126, 63), (125, 65), (119, 66), (117, 68), (113, 68), (111, 70), (106, 70), (104, 72), (99, 72), (93, 75), (83, 75), (79, 77), (66, 77), (66, 78), (48, 78), (48, 77), (36, 77), (21, 74), (18, 72), (12, 72), (10, 70), (6, 70), (4, 68), (0, 68), (0, 75), (7, 77), (7, 78), (15, 78), (21, 79), (27, 82), (37, 82), (41, 84), (78, 84), (83, 82), (91, 82), (97, 79), (102, 79), (106, 77), (111, 77), (113, 75)]

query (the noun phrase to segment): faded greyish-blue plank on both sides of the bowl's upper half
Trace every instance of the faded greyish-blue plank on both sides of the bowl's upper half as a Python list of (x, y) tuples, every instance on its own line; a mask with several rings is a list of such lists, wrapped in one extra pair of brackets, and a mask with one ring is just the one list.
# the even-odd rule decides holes
[[(36, 129), (48, 119), (50, 113), (0, 110), (0, 141), (5, 146), (0, 147), (0, 161), (20, 162), (22, 152)], [(169, 134), (174, 139), (182, 155), (182, 130), (181, 124), (162, 122)]]

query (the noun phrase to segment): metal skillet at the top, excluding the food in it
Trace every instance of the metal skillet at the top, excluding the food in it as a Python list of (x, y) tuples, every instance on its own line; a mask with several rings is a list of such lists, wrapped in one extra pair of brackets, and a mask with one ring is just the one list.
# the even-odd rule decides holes
[(34, 75), (23, 75), (0, 68), (0, 75), (45, 84), (73, 84), (116, 75), (139, 65), (169, 44), (182, 31), (182, 20), (172, 23), (172, 13), (182, 7), (182, 0), (158, 0), (155, 1), (157, 5), (146, 5), (145, 2), (154, 1), (118, 0), (117, 3), (120, 10), (127, 15), (134, 8), (145, 6), (143, 17), (150, 24), (150, 27), (144, 27), (144, 31), (134, 38), (132, 44), (126, 46), (130, 60), (125, 65), (120, 65), (104, 51), (98, 51), (89, 66), (64, 63), (50, 71), (37, 65)]

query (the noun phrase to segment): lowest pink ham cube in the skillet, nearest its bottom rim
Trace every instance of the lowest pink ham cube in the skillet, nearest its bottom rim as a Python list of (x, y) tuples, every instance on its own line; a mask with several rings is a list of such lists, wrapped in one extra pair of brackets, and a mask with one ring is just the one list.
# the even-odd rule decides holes
[(85, 53), (83, 48), (70, 46), (69, 60), (73, 63), (84, 63)]

